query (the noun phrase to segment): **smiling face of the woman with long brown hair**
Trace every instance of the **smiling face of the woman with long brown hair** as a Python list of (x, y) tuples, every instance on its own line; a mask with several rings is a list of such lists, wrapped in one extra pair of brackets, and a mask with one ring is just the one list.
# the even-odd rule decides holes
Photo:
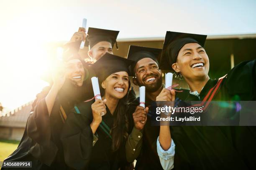
[(102, 82), (102, 87), (105, 89), (105, 96), (115, 99), (123, 98), (128, 92), (128, 73), (125, 71), (113, 73)]

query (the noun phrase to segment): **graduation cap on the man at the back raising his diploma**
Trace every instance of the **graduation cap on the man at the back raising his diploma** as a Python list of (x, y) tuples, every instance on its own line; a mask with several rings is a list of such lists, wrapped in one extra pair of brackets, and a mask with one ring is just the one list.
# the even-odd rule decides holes
[[(86, 37), (84, 46), (88, 47), (90, 45), (90, 48), (92, 48), (98, 42), (107, 41), (107, 42), (110, 42), (113, 47), (116, 42), (118, 33), (119, 31), (103, 30), (99, 28), (89, 27), (87, 32), (88, 35)], [(116, 44), (116, 48), (118, 48), (117, 44)]]

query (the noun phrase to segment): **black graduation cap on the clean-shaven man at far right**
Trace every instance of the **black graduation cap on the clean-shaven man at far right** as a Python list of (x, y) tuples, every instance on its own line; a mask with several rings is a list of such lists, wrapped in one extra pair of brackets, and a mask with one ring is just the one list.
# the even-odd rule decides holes
[(187, 43), (198, 43), (203, 47), (206, 37), (207, 35), (166, 31), (164, 47), (160, 57), (160, 69), (173, 70), (172, 64), (176, 62), (179, 50)]

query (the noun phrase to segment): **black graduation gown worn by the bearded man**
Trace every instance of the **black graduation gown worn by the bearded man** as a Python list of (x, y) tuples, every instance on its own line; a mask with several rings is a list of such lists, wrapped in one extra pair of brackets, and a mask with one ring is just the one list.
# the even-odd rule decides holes
[[(180, 89), (183, 92), (176, 93), (176, 100), (184, 100), (184, 96), (189, 94), (189, 90)], [(137, 105), (139, 105), (139, 97), (135, 101)], [(149, 107), (147, 122), (143, 128), (143, 144), (141, 148), (141, 153), (137, 158), (136, 170), (162, 170), (162, 165), (159, 160), (159, 156), (156, 150), (156, 140), (159, 136), (160, 126), (152, 126), (151, 125), (151, 109), (150, 105), (152, 104), (152, 100), (145, 98), (146, 107)]]

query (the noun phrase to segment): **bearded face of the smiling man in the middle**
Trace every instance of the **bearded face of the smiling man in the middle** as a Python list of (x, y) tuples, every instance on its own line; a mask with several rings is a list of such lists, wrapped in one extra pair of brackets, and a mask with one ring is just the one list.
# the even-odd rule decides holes
[(145, 86), (146, 91), (155, 92), (162, 86), (162, 72), (151, 58), (143, 58), (134, 67), (136, 82)]

